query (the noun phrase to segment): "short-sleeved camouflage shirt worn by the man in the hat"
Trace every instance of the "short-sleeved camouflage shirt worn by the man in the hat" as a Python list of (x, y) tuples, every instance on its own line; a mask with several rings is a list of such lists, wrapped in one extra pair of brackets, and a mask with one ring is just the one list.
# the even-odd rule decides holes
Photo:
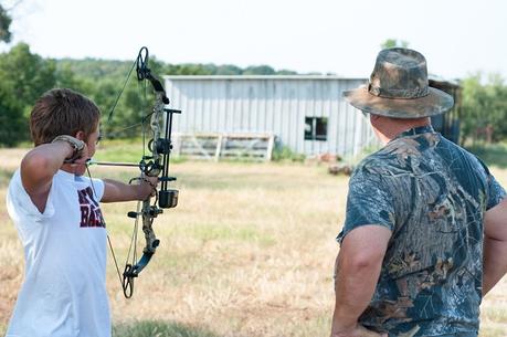
[(373, 298), (359, 322), (389, 336), (478, 331), (484, 213), (504, 189), (475, 156), (431, 126), (367, 157), (349, 182), (344, 236), (392, 231)]

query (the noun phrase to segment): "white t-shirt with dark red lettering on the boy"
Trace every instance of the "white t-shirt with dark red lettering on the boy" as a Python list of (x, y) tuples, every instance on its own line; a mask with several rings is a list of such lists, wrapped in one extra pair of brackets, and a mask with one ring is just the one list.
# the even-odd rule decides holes
[(112, 335), (107, 234), (97, 202), (103, 194), (102, 180), (60, 170), (41, 213), (14, 172), (7, 207), (24, 248), (25, 273), (6, 337)]

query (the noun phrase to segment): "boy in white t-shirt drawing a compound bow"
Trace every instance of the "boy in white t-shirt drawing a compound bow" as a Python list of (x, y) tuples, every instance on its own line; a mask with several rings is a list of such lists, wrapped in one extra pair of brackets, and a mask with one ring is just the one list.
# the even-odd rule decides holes
[(52, 89), (30, 116), (34, 148), (9, 185), (7, 206), (25, 272), (7, 337), (108, 337), (106, 224), (98, 201), (145, 200), (140, 185), (83, 177), (99, 139), (99, 110), (71, 89)]

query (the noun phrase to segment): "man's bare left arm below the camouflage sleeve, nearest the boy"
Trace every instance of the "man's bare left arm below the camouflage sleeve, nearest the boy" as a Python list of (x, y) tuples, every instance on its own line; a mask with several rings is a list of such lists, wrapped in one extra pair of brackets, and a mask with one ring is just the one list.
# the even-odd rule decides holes
[(390, 238), (389, 229), (373, 224), (359, 227), (345, 236), (337, 257), (331, 337), (369, 333), (380, 336), (365, 331), (358, 318), (373, 296)]

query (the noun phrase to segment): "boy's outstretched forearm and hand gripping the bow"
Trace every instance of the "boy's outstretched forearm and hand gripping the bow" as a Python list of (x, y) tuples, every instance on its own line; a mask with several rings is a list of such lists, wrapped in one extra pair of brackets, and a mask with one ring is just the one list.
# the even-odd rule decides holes
[(156, 192), (157, 177), (145, 177), (138, 185), (128, 185), (113, 179), (104, 179), (104, 196), (101, 202), (146, 200)]

